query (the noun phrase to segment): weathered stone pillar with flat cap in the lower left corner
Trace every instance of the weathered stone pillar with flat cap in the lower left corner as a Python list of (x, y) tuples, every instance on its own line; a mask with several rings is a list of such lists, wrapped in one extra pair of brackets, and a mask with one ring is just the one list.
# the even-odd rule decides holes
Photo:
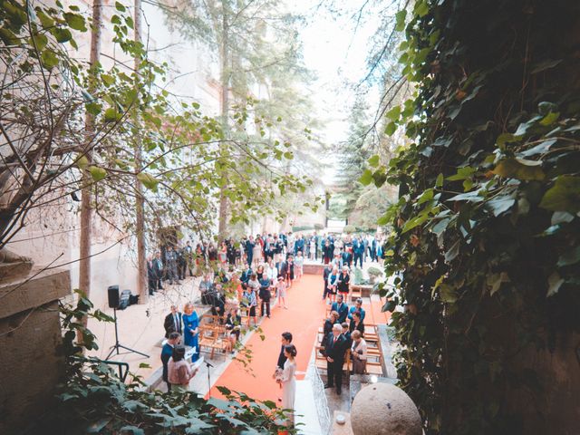
[(0, 433), (22, 433), (48, 409), (62, 374), (58, 300), (71, 294), (69, 271), (33, 272), (0, 283)]

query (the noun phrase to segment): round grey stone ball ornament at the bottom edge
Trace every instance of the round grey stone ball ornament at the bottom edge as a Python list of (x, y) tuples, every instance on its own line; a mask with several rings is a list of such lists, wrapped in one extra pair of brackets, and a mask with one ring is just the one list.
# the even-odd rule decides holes
[(421, 435), (415, 403), (390, 383), (372, 383), (354, 397), (351, 407), (354, 435)]

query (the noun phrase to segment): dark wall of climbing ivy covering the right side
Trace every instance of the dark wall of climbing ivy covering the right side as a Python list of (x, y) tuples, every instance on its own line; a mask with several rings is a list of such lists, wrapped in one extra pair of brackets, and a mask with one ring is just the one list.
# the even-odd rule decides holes
[(389, 115), (412, 143), (384, 168), (400, 189), (386, 272), (402, 279), (382, 295), (405, 307), (396, 365), (426, 433), (550, 431), (527, 408), (543, 373), (525, 355), (580, 330), (579, 7), (421, 0), (397, 15), (417, 95)]

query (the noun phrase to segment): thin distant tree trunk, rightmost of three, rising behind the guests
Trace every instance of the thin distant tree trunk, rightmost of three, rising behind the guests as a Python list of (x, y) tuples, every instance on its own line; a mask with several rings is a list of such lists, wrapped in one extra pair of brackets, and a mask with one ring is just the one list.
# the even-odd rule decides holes
[[(229, 135), (229, 120), (228, 120), (228, 110), (229, 110), (229, 47), (228, 44), (228, 26), (227, 26), (227, 14), (224, 9), (222, 13), (222, 41), (219, 50), (220, 56), (220, 72), (219, 72), (219, 82), (221, 85), (221, 98), (220, 98), (220, 115), (222, 131), (224, 133), (224, 139), (227, 139)], [(227, 150), (227, 142), (223, 142), (222, 150), (225, 154)], [(223, 183), (219, 191), (219, 224), (218, 224), (218, 237), (223, 240), (227, 237), (227, 218), (228, 218), (228, 207), (229, 201), (226, 196), (227, 189), (227, 175), (223, 175), (226, 181)]]

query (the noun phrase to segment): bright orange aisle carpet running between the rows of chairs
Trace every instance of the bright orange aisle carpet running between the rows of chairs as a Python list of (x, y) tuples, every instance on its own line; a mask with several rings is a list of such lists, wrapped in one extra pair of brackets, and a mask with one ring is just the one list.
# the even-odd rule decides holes
[[(319, 275), (304, 275), (286, 292), (288, 309), (275, 307), (272, 317), (264, 318), (262, 330), (266, 339), (254, 333), (247, 342), (252, 350), (252, 362), (245, 367), (234, 361), (218, 378), (211, 390), (213, 397), (221, 397), (217, 385), (232, 391), (243, 391), (249, 397), (260, 401), (276, 401), (282, 391), (272, 379), (280, 353), (281, 334), (292, 333), (298, 352), (296, 356), (296, 379), (304, 379), (318, 327), (324, 323), (326, 305), (322, 300), (323, 278)], [(256, 314), (259, 314), (259, 306)], [(251, 370), (250, 370), (251, 369)]]

